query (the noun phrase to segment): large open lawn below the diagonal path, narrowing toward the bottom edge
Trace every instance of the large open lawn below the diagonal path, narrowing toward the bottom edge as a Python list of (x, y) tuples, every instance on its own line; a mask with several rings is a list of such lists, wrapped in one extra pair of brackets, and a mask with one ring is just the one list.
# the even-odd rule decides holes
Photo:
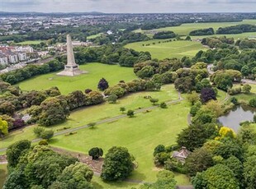
[[(124, 146), (135, 155), (139, 164), (130, 179), (154, 182), (159, 171), (153, 162), (154, 147), (175, 143), (178, 133), (187, 127), (189, 107), (184, 100), (166, 109), (135, 114), (135, 118), (122, 118), (93, 129), (86, 128), (73, 136), (56, 136), (50, 145), (86, 154), (94, 146), (102, 147), (105, 153), (113, 145)], [(178, 184), (188, 184), (184, 177), (178, 180)]]

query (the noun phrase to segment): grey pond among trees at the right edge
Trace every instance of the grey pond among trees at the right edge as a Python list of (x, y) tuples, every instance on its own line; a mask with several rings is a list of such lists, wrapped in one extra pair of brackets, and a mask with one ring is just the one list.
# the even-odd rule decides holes
[(240, 122), (254, 120), (254, 113), (256, 113), (255, 109), (239, 105), (233, 108), (230, 113), (218, 118), (218, 122), (225, 127), (230, 127), (234, 129), (234, 131), (238, 131)]

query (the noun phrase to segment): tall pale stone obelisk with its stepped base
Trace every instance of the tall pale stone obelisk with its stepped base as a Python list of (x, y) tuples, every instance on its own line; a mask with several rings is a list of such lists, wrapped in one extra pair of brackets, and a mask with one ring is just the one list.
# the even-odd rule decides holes
[(79, 70), (78, 64), (74, 61), (73, 56), (73, 44), (71, 36), (67, 35), (67, 65), (65, 65), (64, 71), (57, 73), (59, 76), (78, 76), (86, 73), (87, 71)]

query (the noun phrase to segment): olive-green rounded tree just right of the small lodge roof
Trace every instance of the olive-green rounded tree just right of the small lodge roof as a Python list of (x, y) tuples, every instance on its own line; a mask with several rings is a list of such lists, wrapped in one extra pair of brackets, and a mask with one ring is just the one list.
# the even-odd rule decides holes
[(213, 166), (213, 159), (210, 150), (205, 147), (194, 150), (187, 156), (185, 166), (189, 176), (196, 176), (197, 172), (205, 171)]

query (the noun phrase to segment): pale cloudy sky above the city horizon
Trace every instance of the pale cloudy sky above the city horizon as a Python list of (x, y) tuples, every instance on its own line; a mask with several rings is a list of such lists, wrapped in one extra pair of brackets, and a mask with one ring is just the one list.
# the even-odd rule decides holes
[(0, 12), (256, 12), (256, 0), (0, 0)]

